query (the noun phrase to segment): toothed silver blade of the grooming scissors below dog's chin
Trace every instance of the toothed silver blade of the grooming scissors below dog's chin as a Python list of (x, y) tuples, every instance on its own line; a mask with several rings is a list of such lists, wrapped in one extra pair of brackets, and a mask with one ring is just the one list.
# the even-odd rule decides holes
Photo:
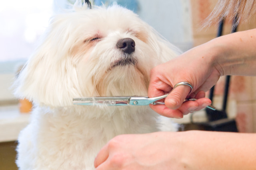
[(73, 104), (90, 106), (125, 106), (129, 105), (130, 98), (131, 97), (129, 96), (73, 98)]

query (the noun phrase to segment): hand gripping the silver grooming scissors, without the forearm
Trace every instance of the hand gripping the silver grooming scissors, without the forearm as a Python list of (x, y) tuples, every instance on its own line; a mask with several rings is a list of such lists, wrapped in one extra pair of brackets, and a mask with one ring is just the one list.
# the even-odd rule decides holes
[[(205, 43), (151, 70), (148, 88), (150, 98), (172, 90), (164, 100), (165, 105), (150, 105), (154, 111), (166, 117), (182, 118), (211, 104), (210, 99), (205, 98), (205, 92), (216, 84), (221, 75), (221, 68), (214, 61), (214, 55), (218, 53), (214, 53), (213, 46), (211, 42)], [(193, 86), (192, 93), (189, 94), (191, 88), (185, 85), (173, 89), (179, 82), (190, 83)], [(198, 100), (183, 103), (188, 97)]]

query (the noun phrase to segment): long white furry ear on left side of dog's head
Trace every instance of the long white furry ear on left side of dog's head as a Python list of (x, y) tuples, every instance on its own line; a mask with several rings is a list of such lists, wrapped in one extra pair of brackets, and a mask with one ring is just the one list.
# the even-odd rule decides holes
[(74, 42), (68, 25), (56, 20), (14, 83), (18, 98), (44, 106), (69, 106), (79, 96), (76, 59), (69, 57)]

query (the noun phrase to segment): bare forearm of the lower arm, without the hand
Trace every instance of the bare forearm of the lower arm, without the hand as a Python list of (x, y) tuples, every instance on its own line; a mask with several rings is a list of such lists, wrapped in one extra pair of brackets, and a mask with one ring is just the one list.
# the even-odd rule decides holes
[(182, 132), (188, 169), (251, 170), (256, 168), (256, 135), (206, 131)]

